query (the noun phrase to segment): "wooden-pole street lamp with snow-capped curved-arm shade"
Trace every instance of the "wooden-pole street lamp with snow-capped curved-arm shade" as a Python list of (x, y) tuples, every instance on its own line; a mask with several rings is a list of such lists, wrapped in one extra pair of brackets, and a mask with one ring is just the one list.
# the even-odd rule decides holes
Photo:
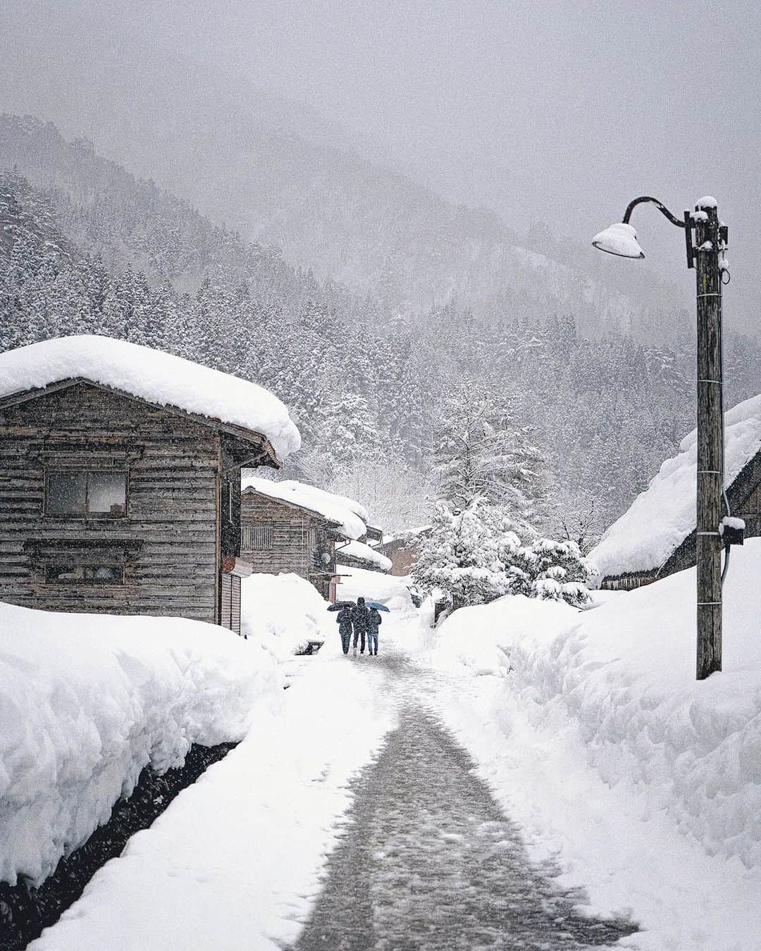
[[(687, 266), (697, 277), (697, 663), (703, 680), (721, 670), (721, 550), (729, 559), (730, 534), (722, 536), (731, 513), (724, 492), (724, 399), (721, 356), (721, 287), (729, 282), (725, 258), (727, 225), (720, 223), (716, 201), (701, 198), (693, 212), (677, 218), (657, 199), (643, 196), (630, 202), (623, 221), (595, 235), (600, 251), (620, 258), (645, 257), (629, 223), (638, 204), (654, 204), (672, 224), (683, 228)], [(693, 229), (695, 233), (693, 242)], [(726, 276), (726, 281), (725, 281)], [(722, 503), (726, 517), (722, 517)], [(731, 520), (732, 531), (737, 519)], [(735, 543), (742, 544), (741, 533)], [(725, 573), (728, 561), (725, 560)]]

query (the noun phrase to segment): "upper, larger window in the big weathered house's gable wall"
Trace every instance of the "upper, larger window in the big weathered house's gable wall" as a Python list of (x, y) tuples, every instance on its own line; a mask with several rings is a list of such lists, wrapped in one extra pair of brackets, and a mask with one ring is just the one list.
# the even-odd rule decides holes
[(127, 473), (48, 473), (45, 480), (45, 513), (122, 518), (127, 514)]

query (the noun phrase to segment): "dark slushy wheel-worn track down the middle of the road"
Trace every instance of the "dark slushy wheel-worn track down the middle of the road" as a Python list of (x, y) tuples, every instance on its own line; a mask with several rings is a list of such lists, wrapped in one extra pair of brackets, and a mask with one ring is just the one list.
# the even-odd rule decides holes
[[(630, 934), (631, 923), (580, 916), (579, 895), (557, 887), (556, 870), (530, 862), (468, 753), (420, 706), (423, 671), (384, 647), (354, 663), (396, 700), (399, 726), (352, 784), (348, 821), (297, 951), (552, 951)], [(372, 710), (360, 715), (372, 730)]]

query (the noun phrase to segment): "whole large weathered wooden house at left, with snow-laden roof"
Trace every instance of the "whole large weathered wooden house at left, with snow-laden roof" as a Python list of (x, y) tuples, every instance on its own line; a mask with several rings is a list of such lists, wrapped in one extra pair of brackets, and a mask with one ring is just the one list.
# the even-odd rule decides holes
[(298, 445), (279, 400), (146, 347), (64, 338), (0, 355), (0, 435), (0, 599), (240, 631), (241, 467)]

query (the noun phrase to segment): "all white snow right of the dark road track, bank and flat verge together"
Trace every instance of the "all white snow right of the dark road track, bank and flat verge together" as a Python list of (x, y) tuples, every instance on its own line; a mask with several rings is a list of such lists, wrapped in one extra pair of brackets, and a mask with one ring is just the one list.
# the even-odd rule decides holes
[(635, 947), (761, 946), (761, 539), (725, 588), (724, 672), (694, 679), (694, 570), (599, 607), (506, 597), (428, 635), (444, 720), (537, 856)]

